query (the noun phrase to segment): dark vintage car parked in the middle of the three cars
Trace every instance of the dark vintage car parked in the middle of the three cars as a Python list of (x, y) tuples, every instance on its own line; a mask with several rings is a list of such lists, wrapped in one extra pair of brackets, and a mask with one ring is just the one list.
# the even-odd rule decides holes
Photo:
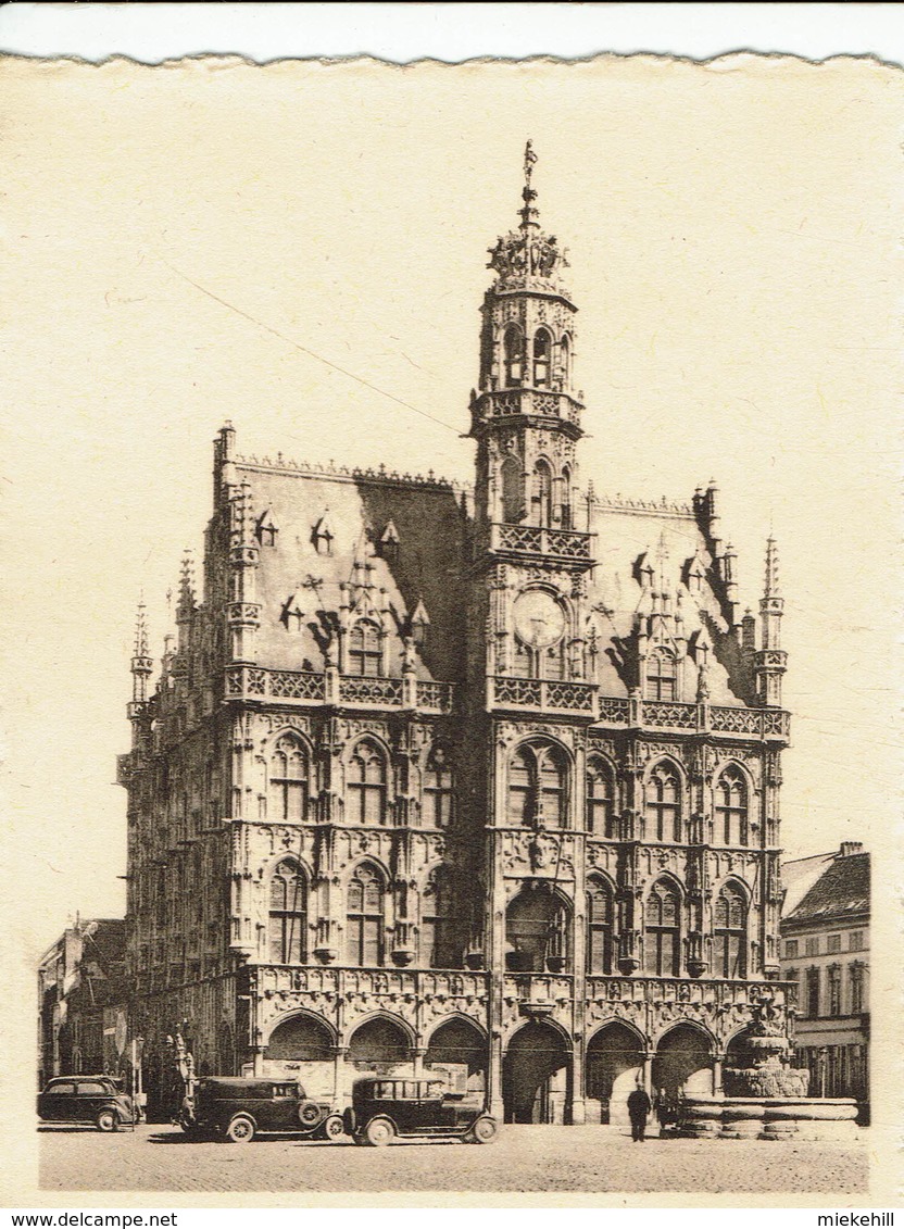
[(236, 1144), (258, 1133), (292, 1132), (333, 1139), (343, 1134), (329, 1101), (306, 1095), (297, 1080), (208, 1075), (185, 1097), (179, 1117), (190, 1136), (215, 1136)]

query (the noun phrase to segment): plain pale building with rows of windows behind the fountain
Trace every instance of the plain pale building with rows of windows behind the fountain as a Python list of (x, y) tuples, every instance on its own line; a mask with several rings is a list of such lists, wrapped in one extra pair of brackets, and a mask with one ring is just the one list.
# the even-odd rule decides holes
[(798, 987), (796, 1066), (813, 1096), (870, 1097), (870, 854), (857, 841), (836, 853), (786, 862), (781, 967)]

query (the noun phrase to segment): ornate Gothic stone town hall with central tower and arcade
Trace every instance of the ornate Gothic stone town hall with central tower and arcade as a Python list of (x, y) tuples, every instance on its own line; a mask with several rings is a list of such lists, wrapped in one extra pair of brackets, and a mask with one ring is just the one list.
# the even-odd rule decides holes
[(240, 457), (226, 426), (154, 691), (139, 617), (151, 1111), (182, 1029), (200, 1072), (338, 1102), (442, 1068), (507, 1118), (608, 1121), (637, 1078), (719, 1086), (753, 1005), (785, 1010), (775, 543), (758, 628), (715, 485), (580, 485), (576, 307), (531, 171), (491, 253), (473, 490)]

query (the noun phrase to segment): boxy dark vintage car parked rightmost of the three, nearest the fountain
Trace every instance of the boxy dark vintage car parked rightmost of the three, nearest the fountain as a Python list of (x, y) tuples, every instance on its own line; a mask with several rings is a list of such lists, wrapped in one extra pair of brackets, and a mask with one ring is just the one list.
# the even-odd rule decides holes
[(437, 1079), (360, 1079), (351, 1090), (344, 1125), (356, 1144), (380, 1148), (402, 1138), (464, 1139), (488, 1144), (496, 1136), (496, 1120), (486, 1113), (483, 1097), (451, 1093)]

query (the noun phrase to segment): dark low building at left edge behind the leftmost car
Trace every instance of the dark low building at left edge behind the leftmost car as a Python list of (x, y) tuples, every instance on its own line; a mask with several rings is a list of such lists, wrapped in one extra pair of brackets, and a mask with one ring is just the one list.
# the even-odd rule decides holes
[(125, 1073), (125, 922), (76, 922), (38, 966), (38, 1084)]

